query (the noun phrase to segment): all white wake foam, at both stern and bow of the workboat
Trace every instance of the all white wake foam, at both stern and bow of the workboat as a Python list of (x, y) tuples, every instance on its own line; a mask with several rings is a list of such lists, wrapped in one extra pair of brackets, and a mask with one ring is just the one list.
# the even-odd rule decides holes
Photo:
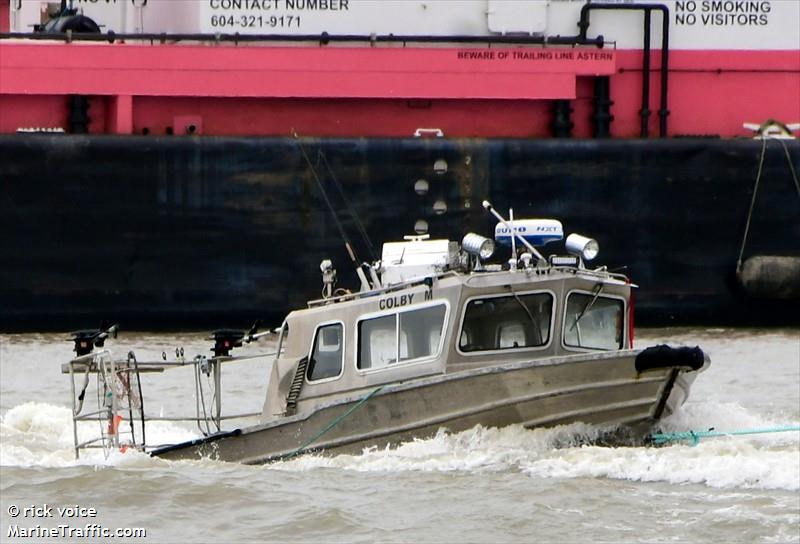
[[(735, 403), (695, 403), (663, 422), (667, 432), (735, 431), (798, 425), (773, 421)], [(79, 439), (98, 431), (97, 423), (79, 427)], [(148, 441), (179, 442), (196, 434), (167, 422), (151, 422)], [(600, 430), (575, 424), (526, 430), (519, 426), (473, 429), (451, 434), (440, 431), (427, 440), (396, 448), (365, 450), (360, 455), (306, 455), (267, 466), (267, 470), (309, 471), (336, 468), (363, 472), (519, 471), (535, 478), (611, 478), (673, 484), (703, 484), (715, 488), (800, 489), (800, 432), (702, 439), (697, 446), (610, 448), (588, 446)], [(81, 454), (75, 461), (69, 409), (25, 403), (0, 418), (0, 464), (64, 467), (75, 464), (147, 466), (166, 463), (144, 454), (102, 450)], [(180, 462), (184, 463), (184, 462)], [(202, 461), (204, 465), (213, 461)], [(219, 464), (221, 465), (221, 464)]]

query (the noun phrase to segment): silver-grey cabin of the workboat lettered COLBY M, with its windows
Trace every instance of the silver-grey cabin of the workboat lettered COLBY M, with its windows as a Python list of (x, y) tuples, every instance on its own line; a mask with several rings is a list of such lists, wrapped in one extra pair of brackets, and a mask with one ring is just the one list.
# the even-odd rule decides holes
[[(558, 229), (536, 241), (560, 240)], [(462, 249), (469, 236), (478, 235)], [(287, 316), (262, 422), (381, 384), (632, 344), (630, 282), (587, 270), (580, 256), (485, 265), (456, 243), (414, 237), (386, 244), (382, 257), (368, 289)]]

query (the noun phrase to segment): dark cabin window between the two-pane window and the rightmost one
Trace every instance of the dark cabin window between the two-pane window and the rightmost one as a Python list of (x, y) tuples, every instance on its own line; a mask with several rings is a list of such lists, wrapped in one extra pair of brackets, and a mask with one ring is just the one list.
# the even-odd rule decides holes
[(458, 347), (473, 352), (544, 346), (550, 342), (552, 313), (549, 293), (471, 300)]

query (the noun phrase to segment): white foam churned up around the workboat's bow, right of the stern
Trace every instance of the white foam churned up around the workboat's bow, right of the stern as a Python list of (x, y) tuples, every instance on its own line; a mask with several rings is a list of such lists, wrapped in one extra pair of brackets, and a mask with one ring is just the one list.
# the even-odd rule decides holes
[[(665, 431), (720, 431), (783, 427), (797, 422), (766, 420), (736, 404), (688, 406), (663, 422)], [(440, 431), (394, 449), (361, 455), (307, 455), (274, 465), (306, 471), (320, 467), (355, 471), (519, 470), (536, 478), (611, 478), (715, 488), (800, 489), (800, 432), (703, 439), (692, 446), (611, 448), (585, 445), (598, 435), (576, 424), (526, 430), (475, 427), (457, 434)]]

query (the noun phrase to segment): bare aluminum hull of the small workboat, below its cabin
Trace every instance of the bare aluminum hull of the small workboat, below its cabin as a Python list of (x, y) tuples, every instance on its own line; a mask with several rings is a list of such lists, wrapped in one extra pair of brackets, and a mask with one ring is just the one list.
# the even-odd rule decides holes
[(697, 372), (666, 367), (640, 374), (637, 354), (551, 357), (365, 389), (310, 413), (153, 454), (257, 464), (312, 451), (396, 446), (442, 428), (459, 432), (475, 425), (536, 428), (575, 422), (642, 441), (654, 423), (683, 402)]

